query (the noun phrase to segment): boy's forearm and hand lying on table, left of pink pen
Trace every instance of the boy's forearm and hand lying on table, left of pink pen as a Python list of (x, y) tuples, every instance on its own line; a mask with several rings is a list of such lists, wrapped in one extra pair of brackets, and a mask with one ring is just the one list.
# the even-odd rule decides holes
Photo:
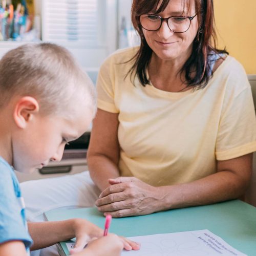
[(29, 222), (28, 229), (34, 241), (31, 250), (45, 248), (75, 237), (77, 243), (79, 242), (81, 246), (84, 246), (90, 238), (102, 236), (103, 233), (101, 228), (83, 219)]

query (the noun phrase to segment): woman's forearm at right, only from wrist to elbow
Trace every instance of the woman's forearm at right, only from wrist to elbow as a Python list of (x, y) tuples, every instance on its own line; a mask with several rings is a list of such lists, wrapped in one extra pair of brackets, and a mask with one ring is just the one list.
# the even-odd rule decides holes
[(190, 183), (159, 187), (159, 210), (236, 199), (243, 195), (246, 185), (236, 174), (223, 171)]

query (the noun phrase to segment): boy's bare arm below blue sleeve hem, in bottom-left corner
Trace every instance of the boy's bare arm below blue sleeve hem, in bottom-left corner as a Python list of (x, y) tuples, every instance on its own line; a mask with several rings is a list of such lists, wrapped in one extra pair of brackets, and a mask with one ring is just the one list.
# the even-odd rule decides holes
[(27, 256), (25, 245), (22, 241), (9, 241), (0, 244), (0, 256)]

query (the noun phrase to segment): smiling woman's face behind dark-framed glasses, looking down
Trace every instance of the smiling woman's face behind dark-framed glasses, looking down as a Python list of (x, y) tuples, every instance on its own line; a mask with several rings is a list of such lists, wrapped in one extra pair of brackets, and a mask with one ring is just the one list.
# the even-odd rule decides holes
[[(170, 0), (165, 10), (157, 15), (167, 18), (170, 16), (194, 16), (195, 14), (194, 1), (190, 0), (190, 7), (187, 10), (183, 0)], [(143, 29), (143, 34), (148, 46), (160, 59), (185, 61), (191, 54), (197, 31), (198, 19), (196, 16), (191, 20), (189, 29), (184, 33), (174, 33), (163, 21), (159, 30), (148, 31)]]

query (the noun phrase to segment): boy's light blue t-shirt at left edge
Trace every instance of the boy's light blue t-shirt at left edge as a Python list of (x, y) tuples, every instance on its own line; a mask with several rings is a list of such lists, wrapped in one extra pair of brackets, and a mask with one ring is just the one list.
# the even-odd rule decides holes
[(13, 168), (0, 157), (0, 243), (19, 240), (29, 251), (25, 205)]

